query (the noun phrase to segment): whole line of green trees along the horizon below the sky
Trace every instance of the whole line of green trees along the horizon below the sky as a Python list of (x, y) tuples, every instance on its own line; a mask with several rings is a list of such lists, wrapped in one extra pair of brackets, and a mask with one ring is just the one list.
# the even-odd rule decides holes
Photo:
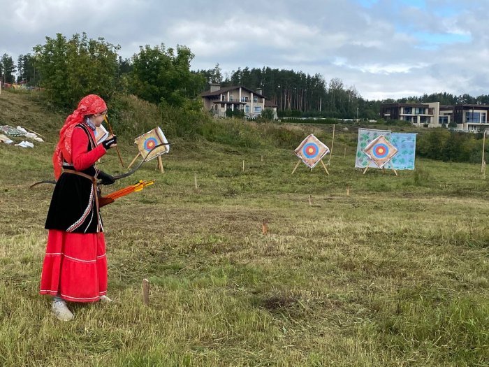
[(3, 82), (22, 82), (46, 89), (52, 103), (72, 107), (82, 96), (97, 93), (110, 99), (117, 92), (135, 94), (140, 99), (163, 106), (198, 109), (198, 94), (208, 90), (211, 83), (223, 87), (243, 85), (262, 89), (277, 105), (279, 117), (379, 118), (381, 103), (439, 101), (441, 104), (488, 103), (489, 95), (472, 97), (447, 93), (424, 94), (403, 99), (368, 101), (355, 87), (342, 80), (328, 82), (321, 74), (263, 67), (238, 68), (224, 76), (219, 64), (207, 70), (190, 70), (194, 54), (189, 48), (177, 45), (141, 46), (130, 59), (118, 55), (119, 45), (103, 38), (89, 39), (86, 34), (66, 38), (57, 34), (46, 37), (33, 53), (19, 55), (17, 66), (12, 57), (0, 59)]

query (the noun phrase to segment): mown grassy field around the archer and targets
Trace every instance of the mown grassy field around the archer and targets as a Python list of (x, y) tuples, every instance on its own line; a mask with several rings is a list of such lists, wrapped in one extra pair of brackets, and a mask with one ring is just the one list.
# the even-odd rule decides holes
[[(57, 321), (37, 293), (52, 185), (28, 185), (52, 176), (63, 119), (0, 96), (0, 124), (46, 137), (34, 150), (0, 145), (0, 366), (489, 365), (480, 166), (416, 159), (399, 177), (362, 175), (340, 144), (329, 176), (302, 164), (291, 175), (295, 146), (168, 136), (163, 175), (150, 161), (105, 189), (156, 179), (102, 209), (115, 301)], [(115, 157), (101, 168), (124, 171)]]

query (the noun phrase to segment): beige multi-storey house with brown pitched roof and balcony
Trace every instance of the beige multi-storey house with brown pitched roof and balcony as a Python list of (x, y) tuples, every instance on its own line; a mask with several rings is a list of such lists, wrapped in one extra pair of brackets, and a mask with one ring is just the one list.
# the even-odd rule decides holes
[(261, 115), (265, 108), (274, 111), (274, 119), (277, 119), (277, 105), (263, 96), (262, 89), (256, 91), (243, 87), (221, 87), (219, 84), (211, 84), (208, 92), (200, 94), (203, 108), (210, 111), (215, 117), (226, 117), (226, 110), (242, 110), (247, 118), (255, 118)]

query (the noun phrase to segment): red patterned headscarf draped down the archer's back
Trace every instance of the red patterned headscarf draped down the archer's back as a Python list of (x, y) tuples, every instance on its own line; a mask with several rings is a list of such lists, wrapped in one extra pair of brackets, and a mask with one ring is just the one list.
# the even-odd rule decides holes
[(71, 115), (66, 117), (61, 131), (59, 131), (59, 142), (52, 154), (52, 164), (54, 166), (54, 178), (57, 180), (61, 175), (61, 167), (63, 166), (63, 157), (71, 160), (71, 134), (77, 124), (83, 121), (86, 115), (94, 115), (95, 113), (103, 113), (107, 110), (107, 105), (101, 97), (96, 94), (89, 94), (82, 98), (78, 103), (78, 108)]

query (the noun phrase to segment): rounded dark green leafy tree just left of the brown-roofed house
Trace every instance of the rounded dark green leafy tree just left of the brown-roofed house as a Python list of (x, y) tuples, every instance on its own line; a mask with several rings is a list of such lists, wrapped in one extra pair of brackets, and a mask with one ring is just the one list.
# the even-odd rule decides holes
[(186, 46), (177, 50), (165, 45), (140, 47), (132, 57), (129, 91), (141, 99), (162, 106), (202, 107), (200, 101), (192, 101), (201, 92), (205, 77), (191, 73), (190, 62), (194, 54)]

